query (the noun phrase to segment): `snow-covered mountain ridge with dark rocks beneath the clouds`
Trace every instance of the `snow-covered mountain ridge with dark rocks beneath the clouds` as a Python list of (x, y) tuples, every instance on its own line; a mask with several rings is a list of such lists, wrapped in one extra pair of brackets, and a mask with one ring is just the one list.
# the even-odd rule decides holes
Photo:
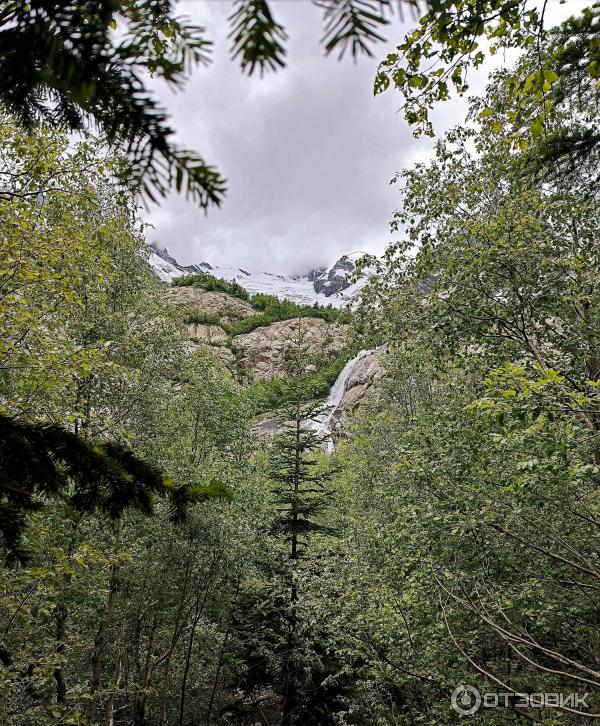
[(150, 244), (148, 262), (156, 276), (164, 282), (171, 282), (181, 275), (206, 273), (224, 280), (235, 280), (249, 293), (257, 292), (274, 295), (280, 299), (287, 298), (293, 302), (344, 307), (353, 300), (363, 287), (366, 279), (351, 283), (355, 261), (362, 256), (353, 252), (341, 257), (331, 267), (311, 270), (306, 275), (278, 275), (273, 272), (254, 272), (240, 267), (215, 267), (208, 262), (195, 265), (180, 265), (166, 248), (156, 243)]

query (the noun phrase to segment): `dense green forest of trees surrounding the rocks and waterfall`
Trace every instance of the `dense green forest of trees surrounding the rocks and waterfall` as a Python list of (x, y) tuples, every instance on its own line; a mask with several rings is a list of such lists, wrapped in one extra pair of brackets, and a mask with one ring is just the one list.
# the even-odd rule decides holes
[[(409, 70), (425, 42), (470, 52), (439, 5)], [(363, 261), (351, 310), (209, 276), (166, 290), (140, 201), (166, 177), (143, 187), (148, 157), (106, 115), (127, 95), (100, 112), (57, 84), (60, 114), (27, 113), (0, 63), (1, 724), (600, 720), (598, 8), (536, 35), (523, 3), (479, 5), (523, 53), (396, 175), (400, 241)], [(408, 83), (425, 126), (410, 94), (448, 89), (398, 64), (377, 90)], [(71, 103), (94, 133), (71, 133)], [(172, 185), (206, 206), (217, 172), (138, 111)], [(184, 310), (167, 294), (182, 286), (250, 309)], [(348, 342), (315, 355), (315, 319)], [(236, 336), (292, 320), (280, 374), (244, 374)], [(233, 362), (193, 325), (220, 326)], [(385, 372), (329, 453), (310, 422), (361, 348)], [(462, 685), (495, 701), (452, 707)]]

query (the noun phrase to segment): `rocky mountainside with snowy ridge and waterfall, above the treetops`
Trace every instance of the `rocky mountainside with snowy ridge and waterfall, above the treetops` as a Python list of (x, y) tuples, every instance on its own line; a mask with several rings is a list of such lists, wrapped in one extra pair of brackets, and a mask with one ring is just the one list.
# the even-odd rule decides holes
[[(344, 422), (382, 375), (379, 351), (353, 354), (355, 344), (351, 342), (350, 310), (352, 303), (356, 304), (366, 277), (357, 283), (352, 281), (352, 256), (344, 256), (331, 268), (311, 271), (305, 278), (296, 280), (271, 273), (250, 276), (243, 270), (213, 268), (206, 263), (183, 268), (165, 250), (157, 251), (156, 248), (150, 252), (149, 263), (156, 276), (169, 285), (164, 289), (164, 298), (175, 306), (187, 326), (188, 349), (193, 351), (203, 347), (214, 353), (239, 384), (263, 382), (267, 387), (270, 381), (284, 377), (286, 352), (294, 341), (302, 338), (307, 355), (306, 377), (316, 380), (326, 373), (325, 381), (331, 384), (326, 410), (315, 422), (314, 429), (326, 439), (328, 450), (332, 450), (330, 437), (334, 431), (337, 437), (343, 436)], [(231, 277), (218, 278), (217, 273)], [(271, 285), (257, 283), (257, 280), (265, 279), (269, 282), (270, 278), (277, 282)], [(218, 280), (224, 284), (219, 285)], [(312, 293), (307, 292), (308, 282), (322, 283), (323, 280), (330, 285), (333, 283), (327, 290), (329, 295), (318, 284), (313, 285)], [(295, 282), (297, 287), (294, 287)], [(236, 283), (241, 290), (231, 287), (230, 283)], [(217, 290), (217, 287), (231, 287), (234, 294)], [(347, 299), (341, 298), (342, 292), (346, 292)], [(279, 311), (278, 317), (283, 319), (270, 323), (262, 319), (265, 300), (268, 299), (265, 296), (282, 301), (289, 307)], [(326, 305), (321, 311), (319, 308), (323, 301)], [(253, 302), (258, 307), (253, 307)], [(341, 311), (342, 305), (347, 312), (335, 312)], [(302, 317), (298, 317), (299, 314)], [(315, 317), (319, 314), (325, 315), (326, 319)], [(234, 335), (236, 324), (242, 327), (250, 324), (248, 327), (253, 329)], [(367, 361), (364, 361), (365, 358)], [(321, 395), (324, 390), (323, 386), (318, 389)], [(276, 395), (271, 395), (266, 406), (277, 408)], [(267, 414), (266, 419), (258, 422), (256, 430), (269, 431), (272, 435), (273, 427), (269, 426), (272, 421), (272, 416)], [(312, 422), (310, 425), (313, 425)]]

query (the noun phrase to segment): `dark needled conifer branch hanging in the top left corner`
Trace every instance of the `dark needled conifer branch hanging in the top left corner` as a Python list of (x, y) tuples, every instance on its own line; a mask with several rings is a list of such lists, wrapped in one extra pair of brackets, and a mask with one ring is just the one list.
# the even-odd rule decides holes
[[(131, 176), (150, 199), (174, 185), (206, 209), (221, 203), (225, 181), (173, 144), (167, 113), (143, 82), (148, 72), (180, 86), (209, 60), (204, 29), (170, 8), (154, 0), (9, 0), (0, 11), (0, 101), (26, 128), (82, 131), (92, 123), (125, 147)], [(120, 43), (116, 29), (125, 31)]]

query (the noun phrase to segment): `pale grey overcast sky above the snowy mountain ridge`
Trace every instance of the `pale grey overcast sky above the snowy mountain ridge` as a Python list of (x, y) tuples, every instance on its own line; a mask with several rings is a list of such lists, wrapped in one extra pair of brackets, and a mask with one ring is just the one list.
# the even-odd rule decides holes
[[(398, 112), (399, 95), (372, 91), (378, 60), (410, 29), (409, 17), (388, 26), (390, 42), (375, 47), (375, 59), (353, 64), (324, 57), (321, 11), (310, 0), (271, 4), (288, 30), (288, 64), (261, 79), (229, 60), (230, 0), (178, 3), (214, 40), (213, 63), (195, 69), (183, 92), (159, 86), (157, 93), (177, 140), (228, 181), (222, 208), (208, 215), (175, 195), (147, 215), (148, 239), (184, 264), (302, 273), (345, 252), (381, 253), (394, 239), (389, 221), (399, 205), (389, 180), (431, 153), (431, 140), (414, 139)], [(588, 4), (569, 0), (567, 10), (551, 0), (551, 19)], [(489, 69), (471, 77), (473, 92)], [(465, 107), (461, 99), (443, 104), (436, 129), (460, 122)]]

